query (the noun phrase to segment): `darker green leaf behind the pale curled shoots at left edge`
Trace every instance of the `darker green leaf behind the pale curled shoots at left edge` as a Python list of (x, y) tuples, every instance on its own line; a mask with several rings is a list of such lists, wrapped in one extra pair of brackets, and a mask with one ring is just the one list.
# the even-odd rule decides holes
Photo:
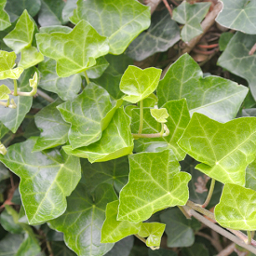
[[(35, 68), (31, 68), (25, 70), (24, 73), (21, 74), (18, 80), (18, 88), (20, 88), (20, 91), (31, 91), (29, 79), (32, 77), (35, 71)], [(13, 82), (11, 80), (5, 80), (4, 83), (10, 90), (13, 90)], [(10, 95), (10, 100), (15, 101), (17, 108), (10, 109), (0, 106), (0, 121), (12, 132), (16, 132), (20, 127), (21, 122), (25, 118), (25, 115), (30, 111), (33, 98), (27, 96)]]

